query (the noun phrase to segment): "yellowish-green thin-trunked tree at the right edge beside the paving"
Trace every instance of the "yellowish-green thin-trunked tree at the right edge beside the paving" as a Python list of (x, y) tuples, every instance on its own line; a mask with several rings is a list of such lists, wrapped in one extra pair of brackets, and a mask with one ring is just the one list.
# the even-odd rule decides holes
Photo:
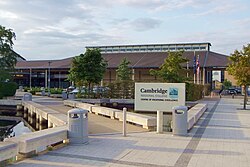
[(227, 68), (229, 74), (233, 75), (237, 83), (244, 87), (243, 109), (246, 109), (247, 86), (250, 85), (250, 44), (243, 46), (241, 51), (235, 50), (229, 60), (230, 64)]

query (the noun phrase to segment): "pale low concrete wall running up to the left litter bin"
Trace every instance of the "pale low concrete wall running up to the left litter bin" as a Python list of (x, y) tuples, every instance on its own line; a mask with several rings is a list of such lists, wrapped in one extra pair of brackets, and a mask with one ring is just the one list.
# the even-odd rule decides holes
[[(62, 142), (67, 138), (67, 126), (61, 126), (24, 134), (14, 138), (7, 138), (3, 143), (15, 143), (18, 146), (18, 153), (24, 157), (29, 157), (38, 151), (42, 151), (39, 150), (41, 147), (45, 147), (46, 149), (46, 146)], [(10, 149), (11, 147), (8, 150), (6, 149), (6, 153), (10, 151)]]

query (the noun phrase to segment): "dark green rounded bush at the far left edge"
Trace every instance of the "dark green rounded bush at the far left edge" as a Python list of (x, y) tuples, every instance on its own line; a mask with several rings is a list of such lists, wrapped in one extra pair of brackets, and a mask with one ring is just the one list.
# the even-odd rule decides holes
[(0, 82), (0, 98), (14, 96), (17, 87), (15, 82)]

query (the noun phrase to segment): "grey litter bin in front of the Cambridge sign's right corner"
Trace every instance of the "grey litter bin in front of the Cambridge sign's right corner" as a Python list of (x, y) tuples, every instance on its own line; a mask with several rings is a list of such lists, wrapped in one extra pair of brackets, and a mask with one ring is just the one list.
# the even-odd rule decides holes
[(176, 106), (173, 107), (173, 135), (186, 136), (187, 135), (187, 107)]

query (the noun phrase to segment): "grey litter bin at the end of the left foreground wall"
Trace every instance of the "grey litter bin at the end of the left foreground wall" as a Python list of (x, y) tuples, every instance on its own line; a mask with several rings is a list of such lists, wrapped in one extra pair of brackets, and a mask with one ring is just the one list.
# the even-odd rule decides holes
[(68, 137), (72, 144), (88, 142), (88, 110), (75, 108), (68, 111)]

